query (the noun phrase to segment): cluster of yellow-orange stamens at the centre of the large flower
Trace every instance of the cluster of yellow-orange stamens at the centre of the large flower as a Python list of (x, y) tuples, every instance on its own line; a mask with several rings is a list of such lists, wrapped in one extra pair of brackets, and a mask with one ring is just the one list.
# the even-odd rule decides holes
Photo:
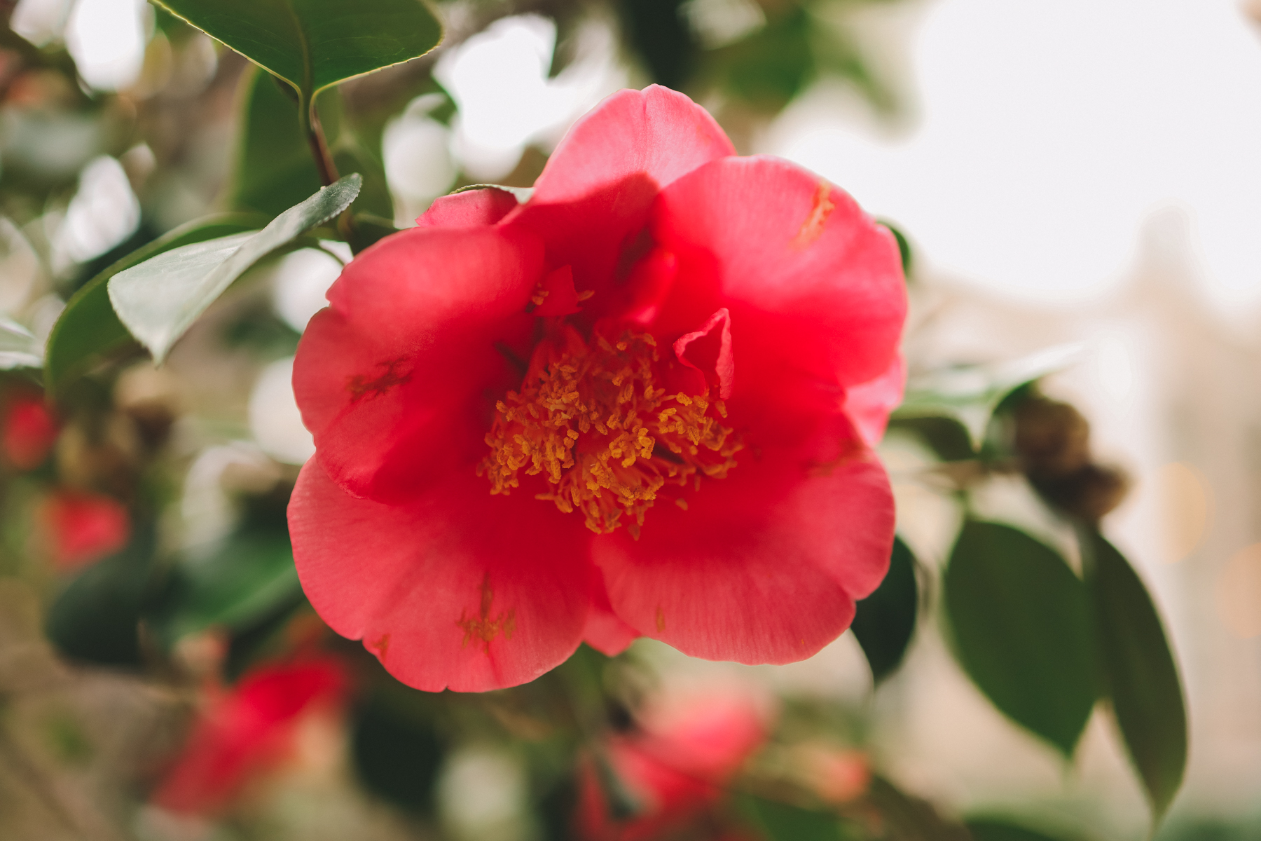
[[(550, 499), (581, 511), (586, 527), (608, 533), (629, 514), (632, 536), (667, 485), (700, 488), (700, 477), (726, 477), (743, 448), (719, 422), (710, 392), (667, 395), (658, 386), (657, 343), (647, 333), (599, 330), (585, 342), (572, 327), (535, 348), (521, 391), (496, 403), (485, 436), (491, 454), (478, 465), (491, 493), (521, 487), (518, 473), (543, 474)], [(675, 497), (687, 508), (687, 502)]]

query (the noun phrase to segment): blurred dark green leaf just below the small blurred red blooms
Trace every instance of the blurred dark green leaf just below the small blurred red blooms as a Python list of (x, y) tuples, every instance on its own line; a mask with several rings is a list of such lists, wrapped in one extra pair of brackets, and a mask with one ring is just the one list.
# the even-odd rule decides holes
[(140, 615), (154, 556), (153, 523), (135, 523), (131, 541), (87, 567), (48, 609), (49, 641), (64, 656), (101, 666), (139, 666)]

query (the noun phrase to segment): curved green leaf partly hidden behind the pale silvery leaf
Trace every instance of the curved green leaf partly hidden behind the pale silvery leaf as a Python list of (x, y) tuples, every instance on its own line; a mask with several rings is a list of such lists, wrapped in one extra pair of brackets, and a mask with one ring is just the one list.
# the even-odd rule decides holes
[(111, 277), (171, 248), (253, 231), (266, 223), (247, 213), (226, 213), (197, 219), (169, 231), (139, 248), (87, 281), (62, 310), (44, 348), (44, 386), (61, 391), (62, 386), (86, 369), (93, 359), (131, 340), (127, 328), (110, 305), (106, 284)]

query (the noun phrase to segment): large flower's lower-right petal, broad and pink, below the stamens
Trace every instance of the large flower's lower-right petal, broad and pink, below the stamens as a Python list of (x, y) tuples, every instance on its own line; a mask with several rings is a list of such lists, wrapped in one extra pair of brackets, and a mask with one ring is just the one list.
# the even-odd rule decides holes
[(658, 501), (638, 541), (624, 530), (595, 540), (622, 619), (686, 654), (741, 663), (805, 659), (849, 627), (854, 600), (888, 570), (889, 480), (844, 415), (797, 422), (812, 429), (755, 438), (765, 445), (687, 494), (687, 511)]

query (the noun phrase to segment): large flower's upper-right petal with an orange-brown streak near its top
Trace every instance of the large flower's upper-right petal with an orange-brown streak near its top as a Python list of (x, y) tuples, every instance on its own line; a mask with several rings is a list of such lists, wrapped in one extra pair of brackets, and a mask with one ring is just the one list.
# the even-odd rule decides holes
[(667, 187), (656, 242), (678, 277), (654, 325), (680, 335), (720, 306), (738, 388), (794, 372), (837, 390), (881, 374), (907, 311), (898, 246), (847, 194), (776, 158), (726, 158)]

